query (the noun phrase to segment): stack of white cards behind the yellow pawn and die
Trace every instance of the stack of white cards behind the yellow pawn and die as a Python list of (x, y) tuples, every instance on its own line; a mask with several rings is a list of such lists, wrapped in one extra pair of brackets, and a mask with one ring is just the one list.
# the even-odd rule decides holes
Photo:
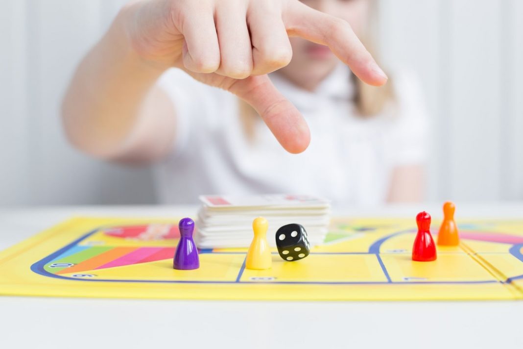
[(311, 245), (317, 245), (325, 239), (331, 215), (327, 200), (304, 195), (200, 196), (200, 200), (194, 235), (200, 249), (248, 247), (253, 220), (259, 216), (269, 221), (270, 246), (276, 246), (278, 228), (290, 223), (301, 224)]

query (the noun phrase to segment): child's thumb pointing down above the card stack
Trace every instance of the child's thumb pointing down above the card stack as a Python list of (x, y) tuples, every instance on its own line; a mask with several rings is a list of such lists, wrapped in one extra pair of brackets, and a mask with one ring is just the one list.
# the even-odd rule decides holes
[(297, 154), (309, 146), (309, 126), (267, 75), (235, 80), (228, 90), (256, 110), (285, 150)]

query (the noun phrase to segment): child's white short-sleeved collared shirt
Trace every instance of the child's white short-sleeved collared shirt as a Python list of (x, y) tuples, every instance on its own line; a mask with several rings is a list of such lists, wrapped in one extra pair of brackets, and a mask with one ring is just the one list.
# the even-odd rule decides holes
[(342, 64), (314, 93), (278, 74), (271, 80), (305, 117), (309, 148), (286, 152), (259, 118), (254, 140), (245, 135), (234, 95), (171, 69), (158, 81), (177, 115), (173, 151), (156, 166), (164, 204), (192, 204), (202, 194), (310, 194), (333, 205), (384, 202), (392, 169), (422, 163), (426, 114), (419, 88), (406, 76), (394, 81), (392, 106), (381, 115), (356, 114), (354, 83)]

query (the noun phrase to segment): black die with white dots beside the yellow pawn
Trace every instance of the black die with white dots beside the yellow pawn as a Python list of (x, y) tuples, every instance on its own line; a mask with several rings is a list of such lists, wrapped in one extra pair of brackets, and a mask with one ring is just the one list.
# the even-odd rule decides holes
[(298, 261), (309, 255), (311, 246), (301, 224), (287, 224), (276, 232), (278, 253), (286, 261)]

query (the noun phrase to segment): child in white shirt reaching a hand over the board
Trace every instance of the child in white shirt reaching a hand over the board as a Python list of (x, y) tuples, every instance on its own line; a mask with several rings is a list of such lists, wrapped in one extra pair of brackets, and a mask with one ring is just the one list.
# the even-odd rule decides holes
[(154, 161), (163, 203), (419, 200), (417, 89), (402, 76), (394, 93), (359, 81), (388, 79), (357, 37), (370, 9), (369, 0), (133, 2), (79, 65), (65, 131), (101, 159)]

